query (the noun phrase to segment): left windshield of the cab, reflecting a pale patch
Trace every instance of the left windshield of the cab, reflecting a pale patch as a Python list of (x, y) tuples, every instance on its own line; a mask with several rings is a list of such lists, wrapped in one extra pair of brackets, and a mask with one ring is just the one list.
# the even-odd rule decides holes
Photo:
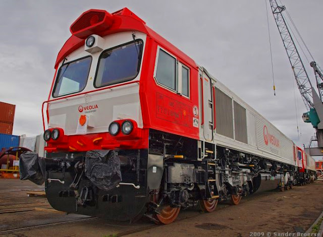
[(64, 64), (58, 72), (52, 96), (59, 97), (82, 91), (89, 76), (91, 61), (92, 57), (88, 56)]

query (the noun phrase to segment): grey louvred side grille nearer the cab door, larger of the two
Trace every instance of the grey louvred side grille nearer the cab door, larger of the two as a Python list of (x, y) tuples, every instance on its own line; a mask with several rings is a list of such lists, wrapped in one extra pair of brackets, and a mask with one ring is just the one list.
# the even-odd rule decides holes
[(217, 133), (233, 139), (232, 99), (216, 88)]

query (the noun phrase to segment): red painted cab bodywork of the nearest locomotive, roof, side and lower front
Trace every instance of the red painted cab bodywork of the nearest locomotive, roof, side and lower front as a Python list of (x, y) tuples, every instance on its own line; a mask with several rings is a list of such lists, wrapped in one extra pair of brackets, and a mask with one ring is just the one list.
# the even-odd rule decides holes
[[(95, 11), (95, 10), (89, 10)], [(82, 16), (89, 11), (83, 13), (78, 19), (84, 19)], [(110, 15), (109, 15), (110, 17)], [(79, 30), (76, 32), (77, 37), (72, 35), (64, 44), (63, 48), (58, 54), (55, 63), (55, 69), (64, 57), (69, 55), (74, 50), (84, 45), (85, 38), (90, 34), (97, 34), (99, 36), (106, 36), (109, 34), (122, 31), (139, 31), (147, 35), (145, 53), (142, 60), (141, 78), (139, 82), (139, 96), (142, 110), (143, 129), (140, 129), (140, 136), (137, 138), (129, 137), (129, 140), (118, 140), (109, 133), (88, 134), (64, 136), (61, 142), (49, 141), (46, 150), (48, 152), (55, 151), (87, 151), (92, 149), (141, 149), (148, 147), (148, 133), (149, 129), (156, 129), (172, 134), (181, 135), (193, 139), (199, 139), (199, 129), (193, 127), (193, 106), (198, 105), (198, 66), (195, 62), (180, 51), (177, 47), (172, 45), (166, 39), (158, 35), (145, 25), (145, 22), (130, 12), (128, 9), (122, 9), (113, 14), (113, 23), (102, 30), (102, 28), (95, 28), (87, 26), (84, 32)], [(74, 22), (73, 24), (76, 24)], [(95, 25), (94, 25), (95, 26)], [(90, 30), (89, 30), (90, 29)], [(87, 35), (88, 34), (88, 35)], [(157, 46), (169, 51), (177, 57), (177, 60), (189, 68), (190, 72), (190, 98), (186, 98), (180, 94), (170, 91), (164, 87), (157, 85), (154, 80), (153, 73), (156, 61)], [(55, 81), (55, 77), (53, 79)], [(54, 83), (53, 81), (53, 83)], [(114, 85), (114, 86), (119, 86)], [(51, 85), (52, 90), (53, 84)], [(99, 88), (104, 90), (108, 87)], [(50, 93), (51, 93), (50, 90)], [(109, 93), (109, 90), (106, 91)], [(91, 92), (84, 92), (91, 93)], [(73, 94), (77, 96), (83, 93)], [(50, 95), (49, 95), (50, 97)], [(69, 96), (61, 97), (54, 100), (60, 100)], [(48, 100), (50, 102), (53, 100)], [(43, 104), (44, 105), (44, 104)], [(48, 113), (48, 107), (47, 107)], [(47, 114), (48, 118), (48, 114)], [(99, 142), (93, 143), (93, 140), (99, 139)], [(86, 140), (86, 145), (82, 146), (80, 140)]]

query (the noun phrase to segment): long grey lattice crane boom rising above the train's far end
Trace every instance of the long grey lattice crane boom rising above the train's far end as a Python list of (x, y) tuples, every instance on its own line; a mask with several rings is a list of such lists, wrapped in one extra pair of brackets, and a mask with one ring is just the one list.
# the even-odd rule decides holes
[(296, 79), (297, 87), (301, 93), (304, 104), (307, 111), (313, 109), (313, 96), (312, 96), (312, 84), (308, 78), (307, 72), (305, 70), (304, 64), (300, 58), (294, 40), (291, 36), (289, 29), (287, 28), (286, 21), (282, 12), (286, 9), (285, 6), (278, 6), (276, 0), (270, 0), (272, 12), (279, 30), (279, 33), (284, 42), (284, 46), (291, 63), (294, 76)]

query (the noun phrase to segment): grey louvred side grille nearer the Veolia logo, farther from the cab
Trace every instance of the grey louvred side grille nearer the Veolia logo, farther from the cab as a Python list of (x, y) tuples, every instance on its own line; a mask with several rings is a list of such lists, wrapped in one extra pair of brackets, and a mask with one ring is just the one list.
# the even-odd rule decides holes
[(233, 101), (233, 107), (235, 139), (240, 142), (248, 143), (246, 109), (236, 101)]

